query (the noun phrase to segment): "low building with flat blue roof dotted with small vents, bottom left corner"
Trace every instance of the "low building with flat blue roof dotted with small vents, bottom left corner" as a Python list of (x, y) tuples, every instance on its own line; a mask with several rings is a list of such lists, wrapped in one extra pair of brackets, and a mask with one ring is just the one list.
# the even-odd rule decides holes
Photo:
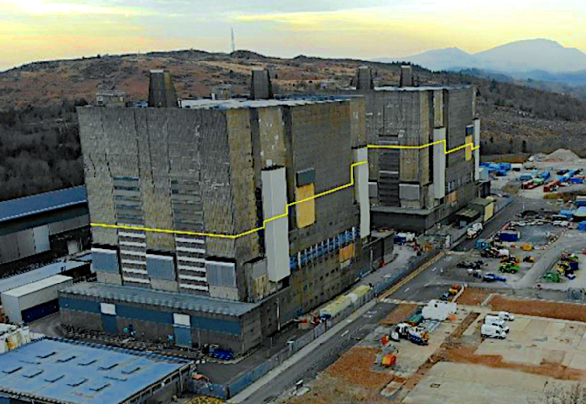
[(188, 386), (193, 362), (59, 338), (0, 354), (0, 402), (146, 404)]

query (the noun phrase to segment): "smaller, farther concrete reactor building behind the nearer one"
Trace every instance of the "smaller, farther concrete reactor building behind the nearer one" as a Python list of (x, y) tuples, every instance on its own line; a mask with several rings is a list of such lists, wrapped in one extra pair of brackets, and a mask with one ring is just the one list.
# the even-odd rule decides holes
[(366, 102), (373, 228), (424, 232), (478, 197), (480, 120), (472, 86), (374, 87), (359, 69)]

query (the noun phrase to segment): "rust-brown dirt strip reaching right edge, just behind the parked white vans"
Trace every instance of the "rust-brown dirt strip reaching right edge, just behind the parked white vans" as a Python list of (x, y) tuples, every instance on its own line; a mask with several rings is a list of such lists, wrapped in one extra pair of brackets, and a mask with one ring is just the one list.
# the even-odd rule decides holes
[[(458, 301), (458, 303), (461, 302)], [(537, 299), (513, 299), (502, 295), (494, 295), (488, 304), (495, 311), (502, 310), (527, 316), (586, 322), (586, 306), (581, 304), (547, 302)]]

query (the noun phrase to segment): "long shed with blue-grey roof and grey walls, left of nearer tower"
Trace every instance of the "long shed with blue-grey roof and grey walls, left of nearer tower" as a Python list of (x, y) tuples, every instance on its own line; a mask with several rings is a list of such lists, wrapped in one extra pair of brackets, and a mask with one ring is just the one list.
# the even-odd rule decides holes
[(0, 275), (90, 248), (86, 187), (0, 202)]

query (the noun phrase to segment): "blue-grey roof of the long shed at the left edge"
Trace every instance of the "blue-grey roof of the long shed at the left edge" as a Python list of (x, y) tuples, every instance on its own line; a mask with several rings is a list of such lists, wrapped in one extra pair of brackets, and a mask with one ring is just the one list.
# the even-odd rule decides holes
[(87, 203), (86, 186), (0, 202), (0, 222)]

